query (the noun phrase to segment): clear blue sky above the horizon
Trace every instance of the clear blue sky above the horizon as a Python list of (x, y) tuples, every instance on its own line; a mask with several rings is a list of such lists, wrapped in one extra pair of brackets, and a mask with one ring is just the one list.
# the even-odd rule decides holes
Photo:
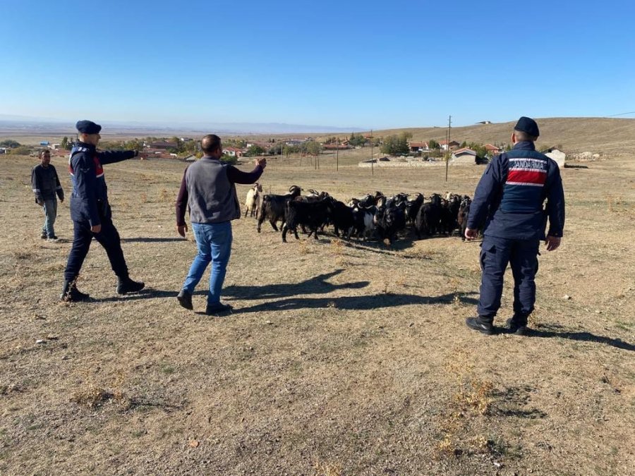
[(0, 114), (379, 129), (635, 111), (627, 0), (4, 0), (0, 18)]

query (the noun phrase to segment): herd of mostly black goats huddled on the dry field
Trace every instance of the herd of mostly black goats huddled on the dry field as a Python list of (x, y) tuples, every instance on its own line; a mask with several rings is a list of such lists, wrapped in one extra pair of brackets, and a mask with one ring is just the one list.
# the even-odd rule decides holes
[(245, 216), (258, 217), (258, 233), (265, 220), (275, 231), (282, 221), (282, 241), (292, 231), (298, 237), (298, 227), (317, 240), (317, 233), (324, 233), (325, 226), (332, 225), (336, 236), (362, 240), (377, 239), (392, 245), (397, 234), (409, 226), (418, 238), (441, 234), (452, 236), (459, 230), (464, 238), (471, 199), (467, 195), (433, 193), (424, 200), (422, 193), (413, 198), (406, 193), (387, 197), (381, 192), (351, 198), (348, 203), (339, 202), (327, 192), (308, 190), (302, 195), (298, 185), (291, 185), (284, 195), (263, 194), (262, 185), (256, 183), (248, 190), (245, 200)]

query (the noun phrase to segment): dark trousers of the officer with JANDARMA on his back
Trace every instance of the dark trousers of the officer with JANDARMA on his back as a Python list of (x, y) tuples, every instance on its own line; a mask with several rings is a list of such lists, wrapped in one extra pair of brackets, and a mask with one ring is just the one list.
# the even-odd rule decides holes
[(514, 276), (514, 316), (526, 324), (527, 316), (536, 303), (536, 272), (540, 240), (514, 240), (485, 236), (480, 250), (480, 281), (478, 315), (494, 318), (500, 307), (503, 277), (507, 264)]

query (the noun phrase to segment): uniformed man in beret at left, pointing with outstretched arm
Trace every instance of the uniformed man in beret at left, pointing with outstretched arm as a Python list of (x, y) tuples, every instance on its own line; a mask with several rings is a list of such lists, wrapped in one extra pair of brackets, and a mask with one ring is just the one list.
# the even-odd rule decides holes
[(135, 150), (97, 151), (97, 144), (101, 139), (99, 131), (102, 130), (102, 126), (92, 121), (78, 121), (75, 127), (79, 132), (80, 140), (71, 150), (71, 158), (68, 160), (68, 169), (73, 183), (71, 195), (73, 248), (68, 255), (60, 298), (67, 302), (88, 298), (87, 294), (78, 291), (75, 281), (93, 237), (107, 252), (112, 270), (118, 278), (117, 293), (141, 291), (145, 286), (144, 283), (133, 281), (128, 276), (119, 233), (111, 219), (103, 169), (104, 164), (132, 159), (138, 152)]

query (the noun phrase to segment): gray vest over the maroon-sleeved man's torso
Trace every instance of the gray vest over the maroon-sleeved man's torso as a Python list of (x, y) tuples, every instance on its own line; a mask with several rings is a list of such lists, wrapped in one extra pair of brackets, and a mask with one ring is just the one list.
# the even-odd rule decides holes
[(220, 223), (241, 217), (236, 185), (227, 178), (227, 166), (203, 157), (186, 171), (188, 208), (193, 223)]

